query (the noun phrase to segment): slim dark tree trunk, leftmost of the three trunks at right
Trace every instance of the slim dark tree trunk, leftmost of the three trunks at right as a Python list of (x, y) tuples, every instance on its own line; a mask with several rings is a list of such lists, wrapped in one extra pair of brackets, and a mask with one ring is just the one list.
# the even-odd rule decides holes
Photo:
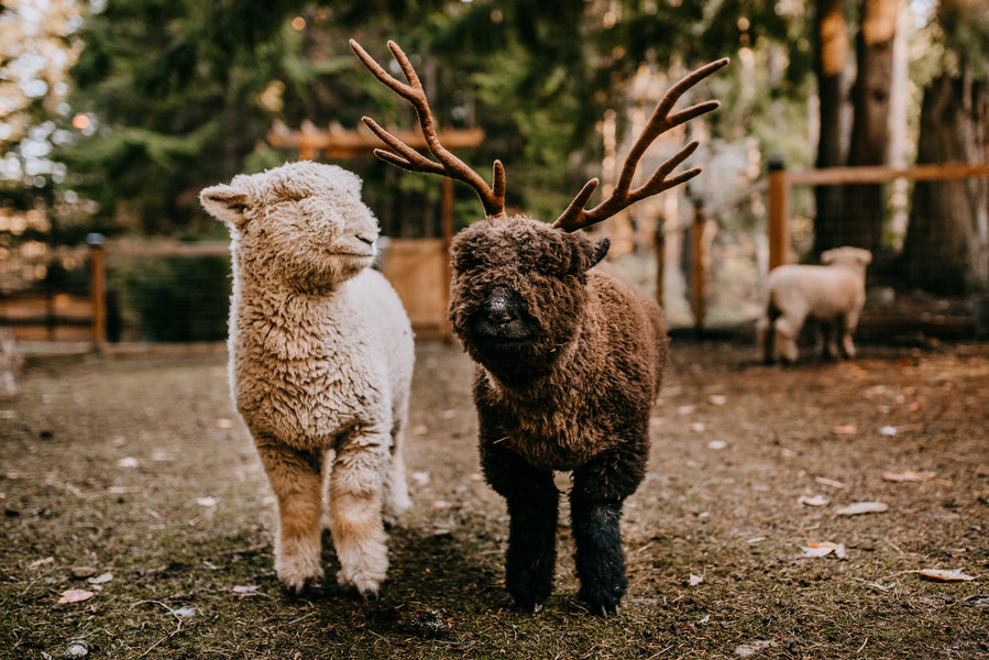
[[(848, 21), (845, 0), (818, 0), (814, 14), (815, 69), (820, 101), (820, 135), (815, 166), (838, 167), (845, 164), (848, 144), (848, 103), (846, 68), (848, 65)], [(814, 188), (814, 252), (837, 246), (840, 228), (846, 221), (840, 186)]]

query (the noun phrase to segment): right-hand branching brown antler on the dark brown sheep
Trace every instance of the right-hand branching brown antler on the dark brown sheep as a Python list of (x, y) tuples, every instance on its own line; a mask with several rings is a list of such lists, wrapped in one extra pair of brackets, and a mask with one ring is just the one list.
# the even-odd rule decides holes
[(678, 165), (685, 161), (697, 148), (697, 142), (691, 142), (681, 148), (674, 156), (660, 165), (656, 173), (642, 186), (635, 190), (629, 189), (642, 154), (646, 153), (649, 145), (652, 144), (661, 133), (679, 127), (695, 117), (700, 117), (705, 112), (710, 112), (721, 105), (717, 101), (705, 101), (703, 103), (697, 103), (696, 106), (691, 106), (675, 114), (670, 114), (670, 110), (680, 97), (683, 96), (683, 92), (726, 64), (728, 64), (727, 57), (706, 64), (688, 74), (682, 80), (668, 89), (667, 94), (663, 95), (662, 99), (659, 101), (659, 105), (656, 106), (656, 110), (652, 111), (652, 117), (649, 118), (649, 123), (646, 124), (642, 134), (639, 135), (639, 139), (633, 145), (631, 151), (628, 152), (628, 157), (625, 158), (625, 165), (622, 167), (622, 175), (618, 177), (618, 183), (615, 186), (612, 196), (593, 209), (584, 209), (584, 205), (587, 204), (591, 194), (597, 188), (598, 180), (592, 178), (584, 184), (584, 187), (576, 194), (576, 197), (573, 198), (573, 201), (570, 202), (567, 210), (557, 218), (557, 221), (553, 222), (553, 227), (562, 229), (563, 231), (576, 231), (590, 227), (602, 220), (607, 220), (618, 211), (628, 208), (641, 199), (658, 195), (663, 190), (690, 180), (701, 174), (701, 168), (694, 167), (693, 169), (681, 172), (671, 179), (667, 179), (667, 176), (669, 176)]

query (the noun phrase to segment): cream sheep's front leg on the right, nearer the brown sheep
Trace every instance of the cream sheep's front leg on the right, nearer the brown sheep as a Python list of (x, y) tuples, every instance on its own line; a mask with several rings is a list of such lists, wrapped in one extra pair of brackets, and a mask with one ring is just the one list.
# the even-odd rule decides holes
[(387, 442), (362, 438), (338, 448), (330, 474), (330, 531), (340, 560), (337, 581), (365, 597), (377, 595), (388, 571), (382, 520), (387, 464)]

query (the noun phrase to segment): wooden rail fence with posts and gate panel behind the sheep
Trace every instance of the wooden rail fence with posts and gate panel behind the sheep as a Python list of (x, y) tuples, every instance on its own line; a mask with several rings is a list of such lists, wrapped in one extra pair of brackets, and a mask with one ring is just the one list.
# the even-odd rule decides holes
[[(711, 272), (710, 223), (754, 195), (767, 196), (767, 232), (769, 268), (784, 264), (790, 252), (790, 195), (793, 186), (822, 186), (843, 184), (879, 184), (895, 179), (948, 180), (989, 176), (989, 164), (917, 165), (906, 168), (882, 166), (836, 167), (788, 172), (784, 167), (771, 167), (769, 175), (717, 205), (695, 201), (692, 221), (685, 227), (660, 229), (656, 234), (658, 257), (657, 290), (663, 290), (663, 243), (672, 232), (690, 230), (691, 254), (691, 312), (694, 328), (703, 329), (706, 310), (707, 286)], [(393, 240), (391, 260), (384, 264), (385, 275), (392, 279), (413, 319), (420, 338), (449, 339), (446, 320), (449, 295), (448, 239)], [(88, 251), (88, 255), (87, 255)], [(48, 262), (73, 256), (89, 264), (89, 295), (64, 293), (34, 295), (17, 300), (0, 301), (0, 324), (13, 327), (19, 339), (89, 341), (95, 350), (107, 345), (107, 260), (117, 257), (167, 257), (228, 255), (229, 244), (208, 243), (114, 243), (108, 246), (101, 237), (90, 237), (88, 248), (59, 249), (45, 255)], [(661, 297), (661, 293), (659, 294)], [(33, 328), (29, 332), (26, 329)]]

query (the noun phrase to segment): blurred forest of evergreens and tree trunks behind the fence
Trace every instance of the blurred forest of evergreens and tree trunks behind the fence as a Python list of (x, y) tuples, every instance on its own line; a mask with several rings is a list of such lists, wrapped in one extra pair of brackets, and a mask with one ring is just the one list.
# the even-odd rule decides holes
[[(770, 155), (791, 169), (989, 162), (986, 0), (3, 0), (0, 295), (85, 277), (72, 263), (13, 264), (92, 233), (224, 239), (198, 193), (296, 160), (266, 140), (276, 122), (352, 130), (370, 114), (413, 128), (413, 111), (363, 69), (350, 37), (383, 63), (397, 41), (441, 128), (484, 130), (461, 157), (485, 176), (501, 158), (509, 207), (548, 221), (587, 178), (607, 183), (623, 141), (673, 80), (726, 55), (732, 66), (692, 91), (722, 101), (688, 129), (702, 142), (691, 166), (705, 175), (684, 195), (705, 204), (756, 184)], [(671, 150), (685, 136), (675, 139)], [(370, 158), (340, 164), (364, 178), (386, 234), (437, 234), (435, 177)], [(794, 200), (806, 219), (796, 256), (892, 250), (904, 284), (985, 292), (989, 182), (939, 186), (807, 190)], [(455, 194), (457, 224), (477, 219), (473, 193)], [(675, 224), (690, 207), (658, 204), (638, 213)], [(737, 222), (765, 231), (752, 219), (763, 210), (755, 204)], [(182, 307), (163, 272), (175, 267), (139, 260), (120, 286), (156, 287)], [(180, 268), (194, 289), (226, 277), (222, 262)], [(213, 300), (221, 331), (224, 297)]]

